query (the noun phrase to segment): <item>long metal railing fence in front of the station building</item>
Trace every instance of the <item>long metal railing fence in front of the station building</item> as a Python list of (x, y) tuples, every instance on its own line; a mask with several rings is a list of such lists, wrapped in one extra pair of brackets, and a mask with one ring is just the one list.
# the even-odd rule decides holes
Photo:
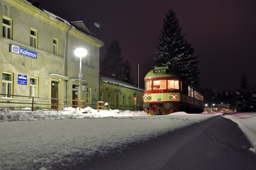
[[(21, 95), (6, 95), (0, 94), (0, 110), (7, 108), (10, 110), (22, 110), (22, 111), (61, 111), (65, 107), (77, 107), (84, 109), (85, 107), (92, 107), (92, 109), (104, 109), (106, 102), (97, 102), (97, 104), (86, 104), (83, 100), (72, 100), (67, 98), (47, 98), (47, 97), (31, 97)], [(132, 110), (138, 111), (143, 110), (141, 105), (129, 105), (129, 104), (117, 104), (109, 103), (108, 109), (119, 109), (119, 110)], [(31, 109), (24, 109), (29, 107)]]

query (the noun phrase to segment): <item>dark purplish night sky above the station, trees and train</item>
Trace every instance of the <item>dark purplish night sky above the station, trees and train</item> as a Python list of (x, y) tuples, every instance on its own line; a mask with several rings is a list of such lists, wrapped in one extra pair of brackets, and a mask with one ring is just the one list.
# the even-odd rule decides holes
[[(202, 88), (232, 91), (245, 73), (250, 88), (256, 87), (255, 0), (36, 0), (40, 8), (69, 22), (83, 20), (95, 38), (100, 24), (100, 59), (112, 40), (118, 40), (122, 56), (132, 65), (132, 77), (140, 86), (154, 57), (163, 20), (172, 9), (182, 34), (195, 49)], [(30, 1), (31, 3), (35, 1)]]

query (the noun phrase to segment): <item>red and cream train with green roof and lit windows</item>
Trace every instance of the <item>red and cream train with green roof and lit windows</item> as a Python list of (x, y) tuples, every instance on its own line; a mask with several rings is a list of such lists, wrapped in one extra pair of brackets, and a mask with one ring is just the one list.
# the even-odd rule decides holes
[(154, 66), (154, 69), (145, 75), (144, 82), (143, 109), (148, 114), (204, 111), (203, 93), (170, 66)]

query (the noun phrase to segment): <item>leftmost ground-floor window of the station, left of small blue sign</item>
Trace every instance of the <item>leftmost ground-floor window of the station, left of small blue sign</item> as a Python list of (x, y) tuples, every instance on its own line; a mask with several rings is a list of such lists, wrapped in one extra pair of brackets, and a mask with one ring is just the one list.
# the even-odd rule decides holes
[(2, 86), (2, 97), (9, 97), (12, 98), (12, 81), (13, 75), (12, 73), (3, 72), (3, 86)]

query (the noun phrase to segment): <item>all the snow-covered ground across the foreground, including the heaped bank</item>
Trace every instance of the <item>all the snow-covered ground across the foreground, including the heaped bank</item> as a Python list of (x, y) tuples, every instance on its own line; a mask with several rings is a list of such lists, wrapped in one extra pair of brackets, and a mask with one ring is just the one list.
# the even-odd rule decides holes
[(0, 169), (256, 169), (256, 113), (222, 114), (4, 110)]

